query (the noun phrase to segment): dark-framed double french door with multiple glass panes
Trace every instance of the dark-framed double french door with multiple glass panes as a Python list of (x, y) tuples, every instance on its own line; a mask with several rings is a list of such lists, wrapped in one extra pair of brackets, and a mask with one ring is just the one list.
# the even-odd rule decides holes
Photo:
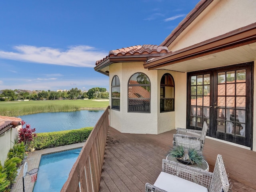
[(251, 147), (253, 62), (188, 73), (187, 128)]

